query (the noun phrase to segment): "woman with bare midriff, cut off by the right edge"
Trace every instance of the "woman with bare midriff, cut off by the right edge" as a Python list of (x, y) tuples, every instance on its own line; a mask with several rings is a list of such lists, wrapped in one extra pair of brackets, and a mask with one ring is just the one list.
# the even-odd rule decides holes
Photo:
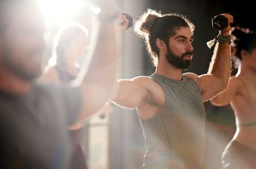
[[(236, 133), (223, 151), (225, 169), (256, 167), (256, 33), (236, 27), (232, 31), (231, 56), (238, 72), (229, 79), (224, 92), (211, 99), (215, 106), (231, 105)], [(238, 62), (238, 63), (237, 63)]]

